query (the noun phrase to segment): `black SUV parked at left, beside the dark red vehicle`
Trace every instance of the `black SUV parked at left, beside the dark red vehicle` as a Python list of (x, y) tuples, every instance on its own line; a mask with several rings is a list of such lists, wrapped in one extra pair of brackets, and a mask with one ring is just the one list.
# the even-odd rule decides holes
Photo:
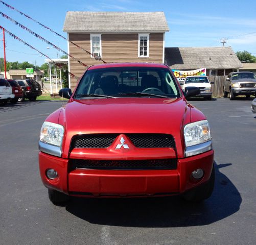
[(17, 80), (17, 82), (21, 86), (23, 92), (23, 98), (19, 99), (19, 102), (24, 101), (25, 99), (35, 101), (36, 97), (42, 94), (40, 84), (33, 79)]

